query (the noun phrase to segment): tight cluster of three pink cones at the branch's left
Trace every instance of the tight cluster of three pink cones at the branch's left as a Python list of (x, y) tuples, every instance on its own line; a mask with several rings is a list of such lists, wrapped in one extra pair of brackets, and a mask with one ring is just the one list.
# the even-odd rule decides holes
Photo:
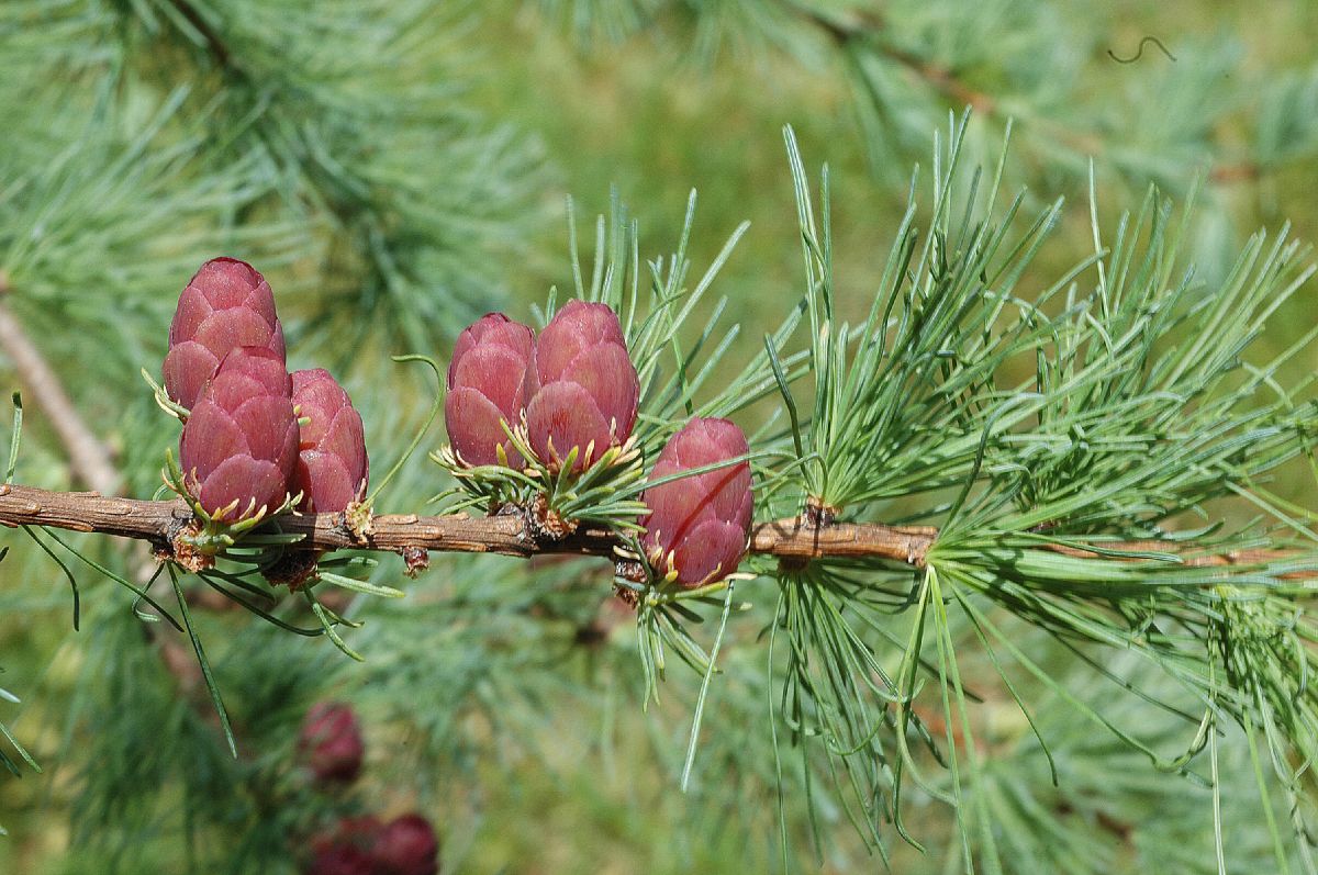
[(233, 507), (233, 522), (297, 493), (299, 509), (333, 513), (361, 498), (361, 416), (328, 372), (289, 376), (274, 295), (250, 265), (202, 265), (179, 295), (163, 370), (166, 393), (190, 411), (185, 485), (207, 513)]

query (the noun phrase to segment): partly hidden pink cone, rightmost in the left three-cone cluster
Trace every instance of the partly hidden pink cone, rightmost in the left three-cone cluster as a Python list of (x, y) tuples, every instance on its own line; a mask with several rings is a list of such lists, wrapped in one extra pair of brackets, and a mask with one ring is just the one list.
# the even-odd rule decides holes
[(299, 427), (298, 464), (291, 493), (302, 493), (299, 509), (337, 513), (366, 490), (366, 436), (352, 399), (323, 368), (293, 372), (293, 403)]

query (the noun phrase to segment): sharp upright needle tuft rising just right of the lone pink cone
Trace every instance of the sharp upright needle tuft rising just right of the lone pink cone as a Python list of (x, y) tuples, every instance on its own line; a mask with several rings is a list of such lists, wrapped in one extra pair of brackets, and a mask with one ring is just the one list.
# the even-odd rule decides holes
[[(826, 171), (821, 232), (788, 130), (816, 381), (807, 445), (817, 461), (803, 472), (807, 494), (834, 511), (960, 486), (973, 477), (985, 435), (999, 434), (1021, 416), (1008, 415), (1021, 405), (996, 391), (994, 376), (1039, 344), (1048, 323), (1037, 311), (1070, 279), (1064, 277), (1032, 302), (1016, 296), (1015, 285), (1061, 204), (1039, 215), (1016, 239), (1008, 235), (1020, 196), (1004, 210), (1000, 224), (977, 216), (978, 174), (969, 194), (957, 198), (954, 190), (963, 136), (962, 123), (952, 132), (946, 155), (936, 141), (931, 228), (919, 233), (912, 202), (879, 279), (880, 293), (853, 331), (834, 315)], [(1000, 179), (1002, 163), (985, 194), (990, 207)], [(954, 199), (965, 206), (954, 207)], [(1004, 319), (1006, 327), (999, 324)]]

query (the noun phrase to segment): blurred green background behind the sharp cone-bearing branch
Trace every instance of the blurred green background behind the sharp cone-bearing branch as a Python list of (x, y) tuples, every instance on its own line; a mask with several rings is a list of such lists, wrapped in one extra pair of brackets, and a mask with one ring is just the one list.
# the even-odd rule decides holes
[[(432, 393), (387, 354), (443, 360), (473, 315), (530, 319), (551, 286), (569, 287), (568, 195), (589, 250), (593, 216), (616, 187), (652, 258), (676, 245), (699, 190), (697, 274), (750, 220), (714, 287), (742, 329), (729, 353), (739, 364), (803, 293), (784, 124), (812, 173), (830, 167), (847, 318), (873, 299), (912, 167), (923, 167), (928, 202), (932, 133), (967, 101), (973, 158), (994, 161), (1012, 119), (1008, 187), (1027, 187), (1033, 204), (1069, 202), (1027, 290), (1093, 250), (1090, 157), (1106, 228), (1149, 183), (1181, 196), (1205, 178), (1191, 249), (1209, 282), (1260, 225), (1289, 220), (1301, 239), (1318, 236), (1318, 5), (973, 5), (4, 0), (0, 303), (116, 452), (128, 494), (146, 497), (174, 432), (137, 370), (157, 369), (178, 291), (215, 254), (248, 258), (270, 279), (290, 366), (323, 362), (361, 399), (377, 470)], [(1108, 54), (1135, 55), (1148, 36), (1172, 57), (1148, 42), (1131, 63)], [(1313, 324), (1314, 295), (1297, 295), (1260, 356)], [(1300, 356), (1282, 382), (1315, 365)], [(17, 382), (0, 356), (0, 385)], [(29, 406), (18, 478), (76, 484), (40, 401)], [(442, 440), (436, 426), (423, 447)], [(416, 509), (442, 488), (420, 456), (406, 470), (385, 510)], [(1280, 492), (1311, 502), (1304, 489)], [(74, 633), (59, 571), (17, 536), (4, 543), (13, 553), (0, 564), (0, 685), (25, 704), (0, 702), (0, 720), (45, 771), (0, 784), (11, 833), (0, 871), (293, 871), (307, 822), (340, 808), (423, 810), (445, 871), (882, 864), (828, 799), (812, 828), (793, 783), (783, 816), (792, 843), (780, 854), (753, 622), (725, 656), (702, 777), (679, 791), (699, 679), (675, 672), (663, 705), (642, 713), (634, 640), (610, 613), (600, 565), (435, 556), (405, 604), (361, 607), (368, 626), (353, 643), (365, 668), (245, 615), (206, 617), (241, 727), (244, 760), (232, 763), (204, 691), (179, 692), (130, 596), (79, 575)], [(120, 569), (140, 561), (79, 543)], [(380, 572), (397, 577), (397, 567)], [(351, 799), (287, 787), (298, 720), (323, 697), (353, 701), (368, 727), (368, 774)], [(1074, 842), (1079, 857), (1098, 849), (1072, 870), (1057, 862), (1070, 858), (1040, 850), (1020, 871), (1215, 871), (1205, 796), (1073, 775), (1072, 792), (1111, 793), (1127, 817), (1106, 803), (1085, 809), (1046, 788), (1019, 713), (990, 702), (985, 714), (1002, 771), (1039, 795), (1021, 810), (1061, 824), (1037, 841)], [(743, 743), (743, 731), (760, 742)], [(1086, 754), (1089, 741), (1068, 748), (1077, 770), (1145, 768)], [(948, 871), (946, 812), (919, 796), (911, 804), (931, 850), (894, 834), (892, 868)], [(1256, 839), (1243, 834), (1232, 853), (1251, 859)]]

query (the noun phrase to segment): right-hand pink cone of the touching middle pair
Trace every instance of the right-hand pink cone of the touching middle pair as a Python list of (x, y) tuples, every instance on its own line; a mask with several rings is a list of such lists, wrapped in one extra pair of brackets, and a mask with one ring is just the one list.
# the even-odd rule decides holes
[(641, 382), (617, 314), (569, 300), (540, 332), (527, 387), (526, 430), (542, 461), (561, 464), (576, 447), (572, 469), (584, 470), (626, 441)]

